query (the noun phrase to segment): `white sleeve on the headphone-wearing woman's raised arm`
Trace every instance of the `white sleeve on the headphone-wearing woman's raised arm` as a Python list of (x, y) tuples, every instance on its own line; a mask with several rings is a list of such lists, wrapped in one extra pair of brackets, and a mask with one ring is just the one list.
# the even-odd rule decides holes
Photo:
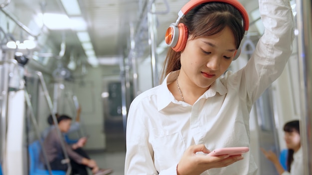
[(242, 69), (247, 99), (254, 103), (283, 72), (293, 48), (294, 16), (289, 0), (259, 0), (265, 32)]

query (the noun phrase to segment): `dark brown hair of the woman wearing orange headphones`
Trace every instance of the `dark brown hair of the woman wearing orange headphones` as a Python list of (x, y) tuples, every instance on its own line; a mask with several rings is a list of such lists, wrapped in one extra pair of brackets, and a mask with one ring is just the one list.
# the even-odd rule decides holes
[[(243, 17), (234, 6), (223, 2), (203, 3), (190, 10), (184, 18), (180, 20), (188, 29), (188, 38), (195, 39), (200, 36), (211, 36), (219, 33), (225, 27), (229, 27), (234, 35), (235, 46), (238, 49), (243, 37)], [(160, 82), (171, 71), (181, 68), (181, 52), (175, 52), (169, 48), (166, 59), (162, 67)]]

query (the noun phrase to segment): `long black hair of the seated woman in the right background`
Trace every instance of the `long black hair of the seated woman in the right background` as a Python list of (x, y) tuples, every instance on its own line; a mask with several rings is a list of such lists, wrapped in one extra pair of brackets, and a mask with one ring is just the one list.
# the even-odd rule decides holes
[[(300, 135), (300, 126), (299, 126), (299, 120), (293, 120), (290, 122), (287, 122), (284, 125), (284, 131), (285, 132), (297, 132)], [(287, 171), (291, 172), (291, 165), (294, 161), (294, 150), (288, 149), (288, 156), (287, 156)]]

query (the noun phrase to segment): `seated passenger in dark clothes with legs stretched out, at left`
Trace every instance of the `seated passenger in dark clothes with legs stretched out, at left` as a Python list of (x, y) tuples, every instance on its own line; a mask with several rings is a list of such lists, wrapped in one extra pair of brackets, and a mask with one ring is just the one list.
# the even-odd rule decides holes
[[(68, 132), (71, 121), (71, 117), (67, 115), (61, 115), (57, 118), (58, 127), (61, 133)], [(64, 140), (64, 138), (62, 139)], [(93, 175), (108, 175), (113, 172), (111, 169), (99, 169), (97, 163), (94, 160), (90, 159), (88, 156), (83, 156), (76, 153), (74, 149), (82, 147), (84, 144), (82, 141), (77, 142), (73, 146), (68, 145), (66, 142), (63, 143), (70, 159), (73, 175), (88, 175), (87, 168), (92, 170)], [(45, 138), (43, 142), (43, 149), (46, 151), (47, 160), (52, 170), (67, 170), (67, 164), (62, 164), (62, 160), (65, 159), (65, 156), (56, 127), (54, 127)], [(45, 164), (42, 154), (40, 155), (40, 160)]]

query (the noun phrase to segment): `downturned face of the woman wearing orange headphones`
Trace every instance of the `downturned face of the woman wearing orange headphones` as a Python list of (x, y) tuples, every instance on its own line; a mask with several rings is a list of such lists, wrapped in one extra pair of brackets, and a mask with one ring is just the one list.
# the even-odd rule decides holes
[(180, 74), (197, 87), (210, 87), (228, 69), (235, 51), (234, 35), (228, 27), (215, 35), (189, 39), (181, 52)]

